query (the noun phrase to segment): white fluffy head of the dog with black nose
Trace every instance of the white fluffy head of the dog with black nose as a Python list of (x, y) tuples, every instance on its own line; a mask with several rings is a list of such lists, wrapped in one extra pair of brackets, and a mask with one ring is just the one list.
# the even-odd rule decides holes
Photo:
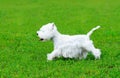
[(55, 31), (57, 30), (54, 23), (48, 23), (43, 25), (39, 31), (37, 31), (37, 35), (40, 38), (40, 41), (50, 40), (54, 37)]

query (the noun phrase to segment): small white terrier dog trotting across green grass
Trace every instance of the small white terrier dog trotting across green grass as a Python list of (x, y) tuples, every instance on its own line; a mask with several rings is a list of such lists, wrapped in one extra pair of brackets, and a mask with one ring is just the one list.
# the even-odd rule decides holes
[(48, 23), (37, 31), (37, 35), (41, 41), (52, 40), (54, 43), (54, 50), (47, 55), (48, 60), (60, 56), (82, 59), (87, 57), (88, 52), (91, 52), (95, 59), (100, 59), (100, 49), (95, 48), (90, 40), (90, 35), (98, 28), (100, 26), (93, 28), (86, 35), (70, 36), (59, 33), (54, 23)]

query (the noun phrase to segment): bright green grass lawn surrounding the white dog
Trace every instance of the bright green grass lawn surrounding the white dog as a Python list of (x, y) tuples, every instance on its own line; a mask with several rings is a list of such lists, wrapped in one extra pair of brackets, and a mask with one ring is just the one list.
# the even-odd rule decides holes
[[(36, 31), (54, 22), (64, 34), (86, 34), (102, 51), (100, 60), (60, 58), (47, 62), (52, 42)], [(0, 78), (120, 78), (119, 0), (0, 0)]]

